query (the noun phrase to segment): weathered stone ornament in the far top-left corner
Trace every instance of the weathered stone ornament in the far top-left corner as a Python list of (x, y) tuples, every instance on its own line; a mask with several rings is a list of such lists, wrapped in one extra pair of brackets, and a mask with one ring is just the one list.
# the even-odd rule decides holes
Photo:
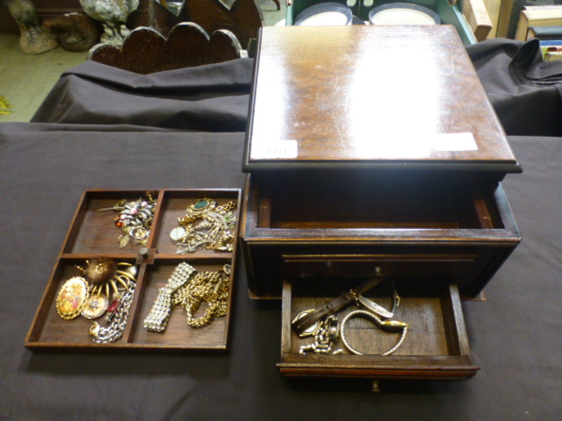
[(58, 42), (39, 25), (31, 0), (4, 0), (10, 14), (20, 27), (20, 49), (25, 54), (40, 54), (57, 47)]

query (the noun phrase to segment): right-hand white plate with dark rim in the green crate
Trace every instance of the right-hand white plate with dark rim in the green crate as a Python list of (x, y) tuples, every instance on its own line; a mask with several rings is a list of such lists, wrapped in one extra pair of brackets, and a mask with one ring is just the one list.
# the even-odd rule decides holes
[(433, 10), (410, 3), (390, 3), (369, 13), (373, 25), (437, 25), (441, 17)]

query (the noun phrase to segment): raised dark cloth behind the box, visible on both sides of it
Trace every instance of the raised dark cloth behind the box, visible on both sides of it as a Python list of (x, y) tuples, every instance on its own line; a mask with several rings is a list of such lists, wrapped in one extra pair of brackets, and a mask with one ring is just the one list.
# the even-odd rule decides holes
[[(508, 135), (562, 136), (562, 61), (542, 62), (537, 40), (497, 38), (467, 51)], [(252, 66), (241, 58), (138, 75), (87, 61), (61, 76), (31, 121), (244, 131)]]

